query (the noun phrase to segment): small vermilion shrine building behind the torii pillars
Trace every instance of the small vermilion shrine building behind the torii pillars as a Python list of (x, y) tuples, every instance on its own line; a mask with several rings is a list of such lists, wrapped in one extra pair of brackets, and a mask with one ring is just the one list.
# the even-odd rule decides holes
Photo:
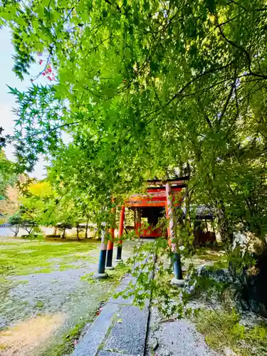
[[(168, 195), (171, 197), (173, 206), (182, 204), (183, 189), (187, 186), (189, 177), (177, 179), (149, 180), (145, 194), (133, 194), (125, 206), (134, 211), (134, 229), (140, 237), (159, 237), (162, 231), (156, 227), (159, 219), (168, 214)], [(168, 190), (169, 189), (169, 190)], [(121, 216), (124, 219), (124, 214)], [(123, 224), (123, 223), (122, 223)]]

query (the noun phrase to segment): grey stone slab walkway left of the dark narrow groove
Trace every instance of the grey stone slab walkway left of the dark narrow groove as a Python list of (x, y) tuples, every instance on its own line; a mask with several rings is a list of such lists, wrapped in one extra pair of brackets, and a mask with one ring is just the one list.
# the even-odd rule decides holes
[[(116, 292), (132, 280), (132, 276), (122, 278)], [(111, 297), (75, 347), (73, 356), (143, 356), (148, 316), (148, 302), (140, 310), (130, 298)]]

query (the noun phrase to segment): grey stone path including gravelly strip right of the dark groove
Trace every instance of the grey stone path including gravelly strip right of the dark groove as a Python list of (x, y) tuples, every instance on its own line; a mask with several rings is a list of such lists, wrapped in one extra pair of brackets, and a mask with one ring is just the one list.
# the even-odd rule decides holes
[[(125, 276), (117, 291), (132, 276)], [(72, 356), (216, 356), (189, 320), (159, 323), (150, 300), (140, 310), (132, 299), (110, 298), (102, 312), (75, 347)]]

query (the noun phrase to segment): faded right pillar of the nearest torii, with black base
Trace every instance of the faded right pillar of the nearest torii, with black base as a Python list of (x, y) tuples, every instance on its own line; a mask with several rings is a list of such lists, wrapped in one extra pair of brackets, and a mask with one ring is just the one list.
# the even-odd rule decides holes
[(174, 209), (173, 209), (173, 199), (172, 192), (169, 183), (166, 184), (166, 200), (167, 200), (167, 209), (166, 215), (168, 219), (168, 235), (169, 235), (169, 244), (172, 249), (172, 262), (174, 268), (174, 278), (172, 279), (172, 284), (177, 286), (182, 286), (182, 265), (181, 258), (178, 253), (179, 246), (177, 246), (177, 241), (174, 235)]

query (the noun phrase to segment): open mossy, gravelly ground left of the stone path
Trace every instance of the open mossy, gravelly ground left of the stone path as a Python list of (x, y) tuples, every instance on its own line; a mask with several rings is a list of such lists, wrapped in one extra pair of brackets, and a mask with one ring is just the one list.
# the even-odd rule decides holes
[[(131, 246), (125, 244), (124, 257)], [(116, 251), (114, 251), (115, 253)], [(93, 281), (95, 241), (0, 240), (0, 355), (58, 355), (53, 346), (90, 323), (120, 278)]]

